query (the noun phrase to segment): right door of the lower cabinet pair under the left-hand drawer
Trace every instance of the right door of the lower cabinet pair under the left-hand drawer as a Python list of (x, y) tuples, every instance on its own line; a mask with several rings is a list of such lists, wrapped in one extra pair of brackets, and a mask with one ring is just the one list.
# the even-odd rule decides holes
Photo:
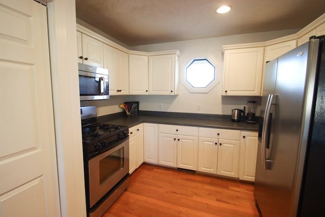
[(198, 137), (177, 136), (177, 167), (194, 171), (198, 169)]

